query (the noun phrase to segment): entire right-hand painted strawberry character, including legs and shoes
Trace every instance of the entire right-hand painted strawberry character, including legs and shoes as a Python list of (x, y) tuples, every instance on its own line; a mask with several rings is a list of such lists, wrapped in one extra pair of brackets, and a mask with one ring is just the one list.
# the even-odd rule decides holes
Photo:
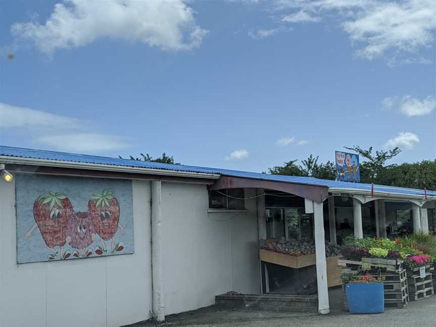
[(124, 243), (115, 244), (115, 233), (120, 228), (124, 235), (124, 228), (120, 225), (120, 204), (111, 190), (104, 189), (102, 193), (93, 194), (88, 202), (88, 214), (91, 217), (95, 233), (101, 240), (101, 245), (95, 248), (95, 253), (107, 253), (105, 241), (111, 241), (111, 254), (124, 249)]

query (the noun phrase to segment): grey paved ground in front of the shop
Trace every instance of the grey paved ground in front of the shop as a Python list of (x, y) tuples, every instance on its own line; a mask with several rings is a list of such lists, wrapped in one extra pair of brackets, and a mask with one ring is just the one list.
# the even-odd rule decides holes
[[(149, 327), (154, 323), (143, 322), (129, 327)], [(350, 315), (340, 310), (328, 315), (291, 314), (245, 310), (220, 310), (215, 306), (170, 315), (164, 326), (203, 327), (436, 327), (436, 296), (410, 302), (404, 309), (390, 309), (382, 314)]]

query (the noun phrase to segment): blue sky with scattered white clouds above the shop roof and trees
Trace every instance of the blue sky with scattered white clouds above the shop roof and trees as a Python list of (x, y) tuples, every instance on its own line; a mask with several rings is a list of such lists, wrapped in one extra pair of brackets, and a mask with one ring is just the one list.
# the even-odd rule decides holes
[(0, 144), (261, 172), (436, 158), (434, 0), (3, 1)]

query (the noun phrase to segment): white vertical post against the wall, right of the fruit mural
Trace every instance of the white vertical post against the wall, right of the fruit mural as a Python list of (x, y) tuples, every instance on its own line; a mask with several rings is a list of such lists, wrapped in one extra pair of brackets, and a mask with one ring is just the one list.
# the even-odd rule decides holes
[(153, 283), (153, 314), (158, 322), (165, 321), (165, 296), (162, 277), (162, 211), (161, 182), (151, 182), (151, 263)]

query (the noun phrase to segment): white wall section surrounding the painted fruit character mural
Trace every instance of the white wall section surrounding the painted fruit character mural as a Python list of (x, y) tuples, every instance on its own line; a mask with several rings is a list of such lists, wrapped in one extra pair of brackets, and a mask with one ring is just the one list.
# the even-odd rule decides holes
[(135, 253), (17, 265), (15, 183), (0, 181), (0, 327), (120, 326), (149, 318), (150, 184), (133, 181)]

